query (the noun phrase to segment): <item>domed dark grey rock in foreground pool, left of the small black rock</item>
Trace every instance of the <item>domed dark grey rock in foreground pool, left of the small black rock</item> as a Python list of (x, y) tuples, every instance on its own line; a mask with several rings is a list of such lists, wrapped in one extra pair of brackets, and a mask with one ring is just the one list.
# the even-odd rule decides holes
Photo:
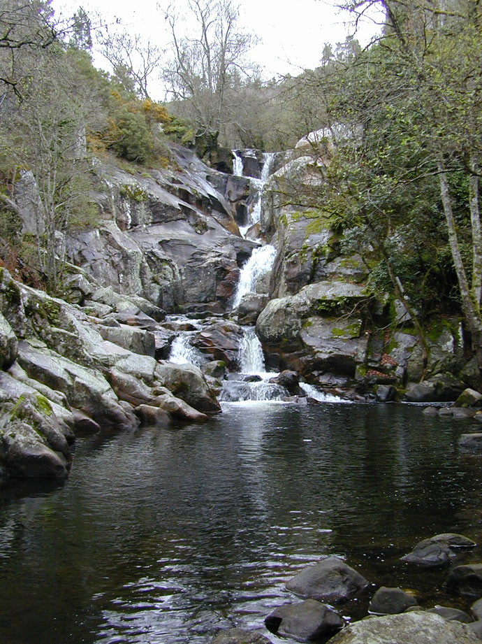
[(297, 595), (326, 601), (345, 601), (365, 589), (367, 580), (339, 557), (328, 557), (286, 582)]

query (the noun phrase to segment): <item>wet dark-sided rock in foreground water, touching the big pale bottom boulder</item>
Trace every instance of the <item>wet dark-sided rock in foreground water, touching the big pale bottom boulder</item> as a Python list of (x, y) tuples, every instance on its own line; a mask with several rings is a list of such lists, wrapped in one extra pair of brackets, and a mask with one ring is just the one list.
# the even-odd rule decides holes
[(342, 629), (343, 625), (342, 618), (333, 608), (314, 599), (280, 606), (265, 618), (268, 631), (298, 641), (311, 641), (333, 635)]

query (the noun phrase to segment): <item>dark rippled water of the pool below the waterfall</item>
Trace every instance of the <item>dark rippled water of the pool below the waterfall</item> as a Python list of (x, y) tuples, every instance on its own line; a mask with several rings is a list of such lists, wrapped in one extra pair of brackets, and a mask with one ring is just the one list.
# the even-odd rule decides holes
[(460, 606), (446, 571), (399, 557), (439, 532), (481, 541), (482, 455), (459, 453), (464, 431), (478, 429), (416, 406), (241, 403), (207, 424), (80, 438), (64, 487), (0, 489), (0, 642), (263, 629), (293, 599), (284, 582), (328, 554), (374, 587)]

